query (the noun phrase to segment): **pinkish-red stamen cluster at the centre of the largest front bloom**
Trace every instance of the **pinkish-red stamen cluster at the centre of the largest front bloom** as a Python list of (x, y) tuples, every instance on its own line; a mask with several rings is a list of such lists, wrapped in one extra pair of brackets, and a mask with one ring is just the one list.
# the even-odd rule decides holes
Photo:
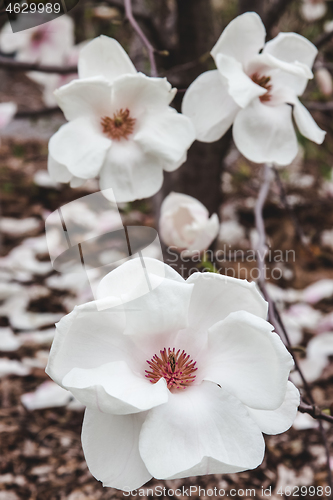
[(165, 378), (168, 389), (185, 389), (192, 384), (195, 379), (193, 373), (197, 370), (196, 362), (185, 351), (175, 351), (175, 348), (164, 348), (160, 356), (155, 354), (151, 361), (147, 361), (150, 370), (145, 370), (146, 377), (152, 384), (160, 378)]

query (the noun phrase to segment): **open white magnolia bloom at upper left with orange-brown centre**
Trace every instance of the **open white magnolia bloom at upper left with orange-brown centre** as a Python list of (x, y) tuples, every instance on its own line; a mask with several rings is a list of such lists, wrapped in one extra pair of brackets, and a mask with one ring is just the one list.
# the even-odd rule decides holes
[(79, 79), (55, 92), (69, 121), (49, 143), (49, 172), (72, 185), (100, 176), (117, 202), (155, 194), (163, 169), (186, 159), (195, 139), (189, 118), (169, 106), (176, 89), (138, 73), (119, 43), (106, 36), (80, 53)]

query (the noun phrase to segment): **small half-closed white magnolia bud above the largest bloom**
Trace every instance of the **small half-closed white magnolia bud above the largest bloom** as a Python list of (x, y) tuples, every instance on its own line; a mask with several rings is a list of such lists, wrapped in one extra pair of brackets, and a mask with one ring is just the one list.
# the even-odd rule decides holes
[(219, 232), (216, 214), (192, 196), (170, 193), (161, 205), (159, 233), (166, 245), (177, 247), (184, 256), (206, 250)]

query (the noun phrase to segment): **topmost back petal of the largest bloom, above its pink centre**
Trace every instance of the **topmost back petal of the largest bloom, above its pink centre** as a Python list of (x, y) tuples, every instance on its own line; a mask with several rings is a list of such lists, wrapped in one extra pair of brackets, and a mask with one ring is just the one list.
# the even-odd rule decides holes
[[(124, 335), (144, 353), (140, 373), (146, 361), (164, 347), (173, 345), (175, 333), (188, 324), (193, 286), (169, 266), (155, 259), (133, 259), (115, 269), (100, 283), (99, 296), (121, 298), (126, 315)], [(180, 279), (179, 279), (180, 278)], [(149, 311), (149, 314), (147, 314)], [(180, 346), (179, 346), (180, 347)], [(141, 354), (140, 349), (136, 357)]]

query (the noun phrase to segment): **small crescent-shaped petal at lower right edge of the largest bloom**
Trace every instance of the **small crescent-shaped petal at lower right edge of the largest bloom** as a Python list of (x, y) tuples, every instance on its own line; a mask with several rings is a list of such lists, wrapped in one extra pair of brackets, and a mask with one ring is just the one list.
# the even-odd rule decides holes
[(299, 402), (298, 389), (294, 384), (288, 382), (285, 399), (277, 410), (253, 410), (248, 408), (248, 412), (258, 424), (261, 432), (265, 434), (281, 434), (292, 426), (297, 415)]

